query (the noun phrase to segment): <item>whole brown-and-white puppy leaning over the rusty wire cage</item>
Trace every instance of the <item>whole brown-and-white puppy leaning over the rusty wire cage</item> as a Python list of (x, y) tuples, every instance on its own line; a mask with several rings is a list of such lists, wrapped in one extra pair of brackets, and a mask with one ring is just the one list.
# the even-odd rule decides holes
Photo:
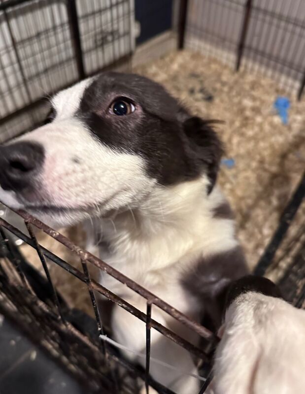
[[(87, 220), (90, 251), (196, 321), (223, 323), (214, 393), (304, 392), (305, 311), (267, 279), (247, 276), (215, 186), (222, 148), (211, 122), (157, 83), (115, 72), (79, 82), (51, 105), (50, 123), (0, 147), (0, 200), (57, 228)], [(100, 282), (146, 311), (123, 284), (106, 274)], [(198, 343), (158, 308), (152, 317)], [(145, 365), (137, 355), (144, 323), (117, 306), (111, 323), (114, 339), (135, 352), (126, 356)], [(176, 368), (152, 361), (155, 380), (199, 392), (181, 373), (197, 373), (192, 357), (155, 330), (151, 356)]]

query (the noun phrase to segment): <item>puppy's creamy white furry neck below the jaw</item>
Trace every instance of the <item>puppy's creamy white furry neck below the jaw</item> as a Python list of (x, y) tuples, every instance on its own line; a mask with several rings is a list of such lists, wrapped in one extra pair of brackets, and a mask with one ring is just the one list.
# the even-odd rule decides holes
[(118, 268), (136, 264), (145, 272), (196, 258), (203, 249), (214, 253), (221, 248), (219, 243), (226, 247), (222, 238), (228, 238), (227, 229), (216, 229), (213, 219), (213, 210), (224, 199), (217, 188), (209, 196), (206, 189), (206, 178), (158, 187), (138, 208), (94, 219), (87, 247)]

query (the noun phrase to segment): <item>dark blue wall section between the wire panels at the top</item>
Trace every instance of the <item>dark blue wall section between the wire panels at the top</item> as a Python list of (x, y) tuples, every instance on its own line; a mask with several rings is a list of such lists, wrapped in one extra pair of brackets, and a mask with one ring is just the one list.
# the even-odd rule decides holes
[(171, 28), (172, 0), (136, 0), (136, 20), (141, 24), (140, 44)]

